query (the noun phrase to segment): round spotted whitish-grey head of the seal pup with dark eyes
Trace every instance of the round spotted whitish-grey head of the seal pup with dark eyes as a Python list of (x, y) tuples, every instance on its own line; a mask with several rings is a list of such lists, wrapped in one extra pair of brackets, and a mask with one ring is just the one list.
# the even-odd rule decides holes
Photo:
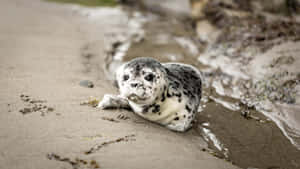
[(153, 104), (165, 90), (166, 69), (151, 58), (137, 58), (116, 73), (121, 96), (137, 104)]

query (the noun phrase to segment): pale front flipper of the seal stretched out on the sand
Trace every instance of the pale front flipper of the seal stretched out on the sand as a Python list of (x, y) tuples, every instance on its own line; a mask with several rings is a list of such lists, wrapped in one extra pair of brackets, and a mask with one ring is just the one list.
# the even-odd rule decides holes
[(116, 96), (110, 94), (105, 94), (97, 107), (101, 109), (114, 109), (114, 108), (130, 109), (127, 99), (119, 95)]

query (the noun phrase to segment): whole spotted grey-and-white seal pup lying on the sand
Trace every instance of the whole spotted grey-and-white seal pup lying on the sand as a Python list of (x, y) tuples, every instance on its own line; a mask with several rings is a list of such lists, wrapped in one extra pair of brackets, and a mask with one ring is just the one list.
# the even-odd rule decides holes
[(179, 63), (137, 58), (116, 72), (120, 95), (105, 95), (98, 107), (131, 108), (175, 131), (191, 127), (201, 99), (200, 72)]

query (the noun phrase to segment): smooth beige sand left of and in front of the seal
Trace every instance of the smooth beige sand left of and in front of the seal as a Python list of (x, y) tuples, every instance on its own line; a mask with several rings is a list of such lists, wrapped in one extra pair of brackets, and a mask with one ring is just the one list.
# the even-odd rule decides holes
[[(67, 6), (38, 0), (2, 0), (0, 21), (1, 169), (89, 167), (49, 160), (49, 153), (73, 161), (95, 160), (100, 168), (110, 169), (237, 168), (202, 152), (206, 144), (194, 131), (175, 133), (131, 112), (80, 105), (89, 96), (116, 92), (100, 66), (109, 24), (89, 23)], [(79, 85), (86, 79), (95, 87)], [(21, 94), (44, 100), (38, 104), (54, 110), (23, 115), (19, 110), (37, 103), (23, 101)], [(116, 118), (119, 114), (129, 119)], [(134, 136), (84, 154), (95, 145), (127, 135)]]

